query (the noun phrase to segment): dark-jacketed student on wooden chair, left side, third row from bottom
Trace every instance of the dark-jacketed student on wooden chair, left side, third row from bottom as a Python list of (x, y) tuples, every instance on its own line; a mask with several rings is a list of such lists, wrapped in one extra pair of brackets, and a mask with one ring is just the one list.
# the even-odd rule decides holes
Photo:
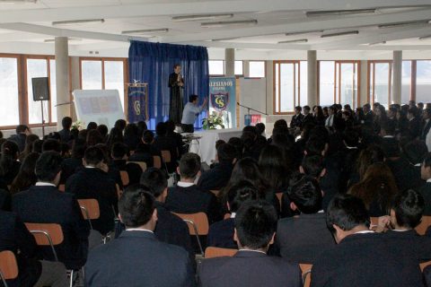
[(66, 181), (66, 193), (78, 199), (94, 198), (99, 203), (100, 217), (92, 220), (92, 228), (106, 235), (114, 229), (114, 209), (117, 207), (117, 187), (106, 173), (103, 152), (98, 147), (89, 147), (84, 153), (84, 169)]

